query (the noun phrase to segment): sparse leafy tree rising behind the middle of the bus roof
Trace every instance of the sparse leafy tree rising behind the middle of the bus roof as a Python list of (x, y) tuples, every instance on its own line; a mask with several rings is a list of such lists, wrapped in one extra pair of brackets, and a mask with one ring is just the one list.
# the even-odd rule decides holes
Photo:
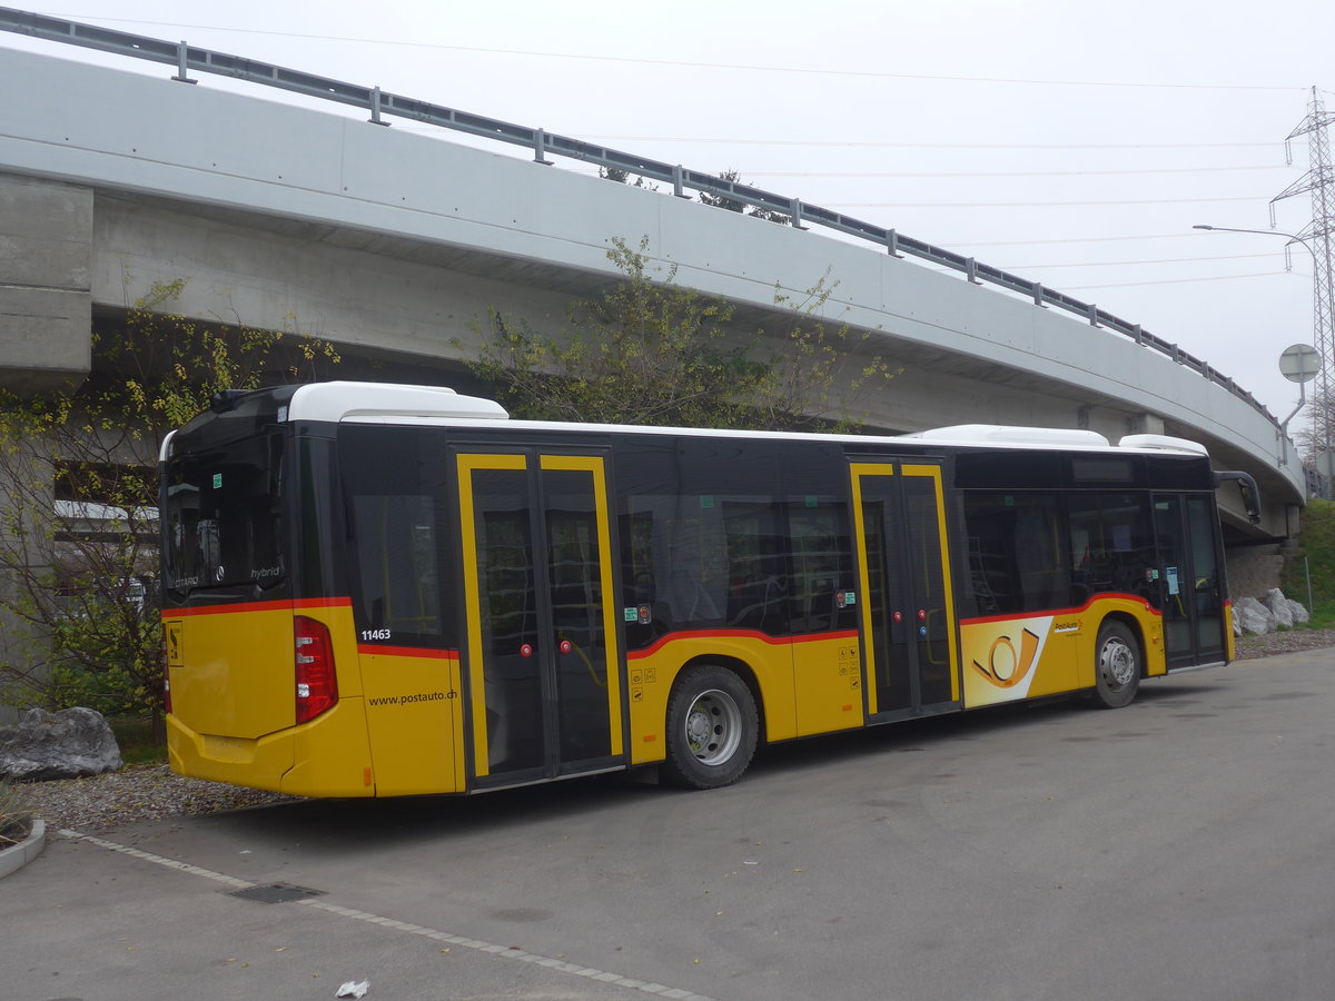
[(573, 303), (559, 332), (493, 311), (473, 372), (518, 416), (805, 430), (852, 428), (856, 399), (898, 374), (868, 352), (870, 335), (821, 319), (824, 278), (800, 300), (776, 290), (792, 316), (782, 332), (741, 332), (730, 304), (674, 284), (646, 250), (614, 240), (623, 280)]

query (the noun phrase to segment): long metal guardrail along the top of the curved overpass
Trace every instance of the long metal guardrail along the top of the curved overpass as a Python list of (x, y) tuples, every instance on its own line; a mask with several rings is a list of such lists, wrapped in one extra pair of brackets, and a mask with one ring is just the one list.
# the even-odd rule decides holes
[(45, 41), (61, 41), (71, 45), (112, 52), (134, 59), (147, 59), (155, 63), (164, 63), (176, 67), (174, 80), (182, 83), (195, 83), (190, 79), (191, 72), (216, 73), (231, 76), (238, 80), (278, 87), (294, 93), (303, 93), (310, 97), (338, 101), (356, 108), (366, 108), (371, 115), (371, 121), (388, 124), (383, 120), (386, 115), (425, 121), (442, 128), (451, 128), (469, 135), (494, 139), (499, 143), (511, 143), (533, 149), (533, 159), (537, 163), (550, 164), (549, 155), (566, 156), (573, 160), (598, 164), (617, 171), (626, 171), (650, 180), (672, 184), (673, 194), (688, 198), (685, 191), (702, 192), (741, 202), (756, 208), (778, 212), (792, 219), (793, 226), (806, 228), (806, 223), (816, 223), (837, 232), (856, 236), (858, 239), (884, 247), (886, 252), (896, 258), (918, 258), (932, 264), (937, 264), (952, 271), (959, 271), (976, 284), (999, 286), (1008, 292), (1015, 292), (1025, 298), (1032, 298), (1035, 306), (1055, 306), (1059, 310), (1081, 316), (1095, 327), (1105, 327), (1117, 334), (1124, 334), (1135, 339), (1137, 344), (1167, 355), (1173, 362), (1199, 372), (1206, 379), (1224, 387), (1232, 395), (1250, 403), (1256, 411), (1263, 414), (1271, 423), (1279, 427), (1279, 420), (1262, 404), (1251, 392), (1236, 382), (1215, 370), (1202, 359), (1183, 351), (1177, 344), (1155, 336), (1144, 330), (1139, 323), (1129, 323), (1120, 316), (1115, 316), (1105, 310), (1100, 310), (1092, 303), (1081, 302), (1073, 296), (1057, 292), (1039, 282), (1031, 282), (1012, 275), (1001, 268), (983, 264), (975, 258), (936, 247), (924, 240), (916, 240), (894, 230), (876, 226), (833, 212), (820, 206), (806, 204), (801, 199), (777, 195), (772, 191), (756, 188), (749, 184), (724, 180), (704, 171), (693, 171), (681, 164), (672, 164), (663, 160), (650, 160), (643, 156), (627, 153), (621, 149), (610, 149), (603, 145), (585, 143), (579, 139), (547, 132), (541, 128), (517, 125), (511, 121), (473, 115), (466, 111), (450, 108), (443, 104), (405, 97), (398, 93), (388, 93), (379, 87), (363, 87), (343, 80), (334, 80), (327, 76), (316, 76), (299, 69), (287, 69), (271, 63), (262, 63), (255, 59), (232, 56), (226, 52), (214, 52), (206, 48), (188, 45), (184, 41), (166, 41), (144, 35), (131, 35), (123, 31), (99, 28), (92, 24), (68, 21), (60, 17), (29, 11), (19, 11), (9, 7), (0, 7), (0, 31), (28, 35)]

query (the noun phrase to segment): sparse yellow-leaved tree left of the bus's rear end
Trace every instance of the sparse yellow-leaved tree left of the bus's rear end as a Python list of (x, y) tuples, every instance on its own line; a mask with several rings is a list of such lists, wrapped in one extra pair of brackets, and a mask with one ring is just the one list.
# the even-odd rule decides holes
[(124, 323), (95, 330), (77, 387), (0, 392), (0, 686), (13, 703), (88, 705), (160, 719), (158, 452), (227, 388), (311, 378), (338, 362), (291, 331), (171, 312), (155, 284)]

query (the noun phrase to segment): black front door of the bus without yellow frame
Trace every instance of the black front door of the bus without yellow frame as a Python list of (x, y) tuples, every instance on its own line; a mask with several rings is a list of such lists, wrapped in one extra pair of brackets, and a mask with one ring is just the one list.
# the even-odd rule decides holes
[(1224, 589), (1215, 507), (1192, 494), (1155, 495), (1160, 609), (1168, 670), (1223, 661)]

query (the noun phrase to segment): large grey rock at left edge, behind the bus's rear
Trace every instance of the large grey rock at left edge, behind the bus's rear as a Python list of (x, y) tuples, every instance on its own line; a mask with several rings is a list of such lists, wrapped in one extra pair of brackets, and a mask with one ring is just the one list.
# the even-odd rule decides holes
[(84, 778), (115, 771), (120, 763), (116, 735), (93, 709), (29, 709), (13, 726), (0, 726), (0, 778)]

